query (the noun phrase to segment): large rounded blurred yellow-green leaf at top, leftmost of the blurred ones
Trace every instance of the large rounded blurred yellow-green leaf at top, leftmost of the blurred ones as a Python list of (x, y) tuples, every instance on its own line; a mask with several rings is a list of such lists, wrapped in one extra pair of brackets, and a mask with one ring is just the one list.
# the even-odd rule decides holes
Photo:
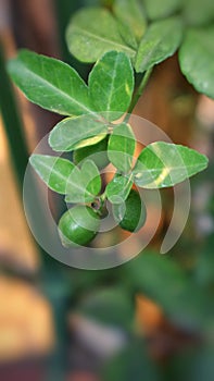
[(134, 59), (118, 32), (118, 25), (104, 8), (84, 8), (71, 20), (66, 30), (67, 46), (79, 61), (96, 62), (110, 50), (123, 51)]

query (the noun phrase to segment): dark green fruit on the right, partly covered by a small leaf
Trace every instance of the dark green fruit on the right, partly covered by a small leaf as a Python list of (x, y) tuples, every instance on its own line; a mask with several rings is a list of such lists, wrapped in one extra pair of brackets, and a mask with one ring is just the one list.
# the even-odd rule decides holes
[(135, 189), (130, 190), (125, 202), (113, 205), (112, 210), (116, 222), (128, 232), (139, 231), (147, 219), (144, 202)]

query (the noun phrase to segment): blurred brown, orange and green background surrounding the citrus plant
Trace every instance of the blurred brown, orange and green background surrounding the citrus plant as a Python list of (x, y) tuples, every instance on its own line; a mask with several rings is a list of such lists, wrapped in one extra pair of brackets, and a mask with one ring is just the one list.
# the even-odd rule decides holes
[[(5, 62), (28, 48), (87, 78), (90, 66), (68, 53), (64, 32), (78, 8), (103, 3), (0, 0), (0, 380), (213, 381), (214, 101), (186, 82), (176, 56), (154, 70), (135, 109), (175, 143), (210, 158), (191, 181), (191, 213), (173, 250), (159, 254), (173, 211), (167, 189), (150, 247), (112, 270), (56, 262), (36, 245), (25, 220), (27, 159), (59, 116), (11, 85)], [(148, 230), (155, 216), (154, 207)]]

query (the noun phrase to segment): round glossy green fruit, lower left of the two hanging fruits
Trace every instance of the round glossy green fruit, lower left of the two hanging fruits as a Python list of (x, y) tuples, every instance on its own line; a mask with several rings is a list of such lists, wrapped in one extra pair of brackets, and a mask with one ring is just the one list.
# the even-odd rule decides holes
[(100, 228), (100, 218), (90, 207), (77, 205), (60, 219), (59, 234), (63, 246), (87, 245)]

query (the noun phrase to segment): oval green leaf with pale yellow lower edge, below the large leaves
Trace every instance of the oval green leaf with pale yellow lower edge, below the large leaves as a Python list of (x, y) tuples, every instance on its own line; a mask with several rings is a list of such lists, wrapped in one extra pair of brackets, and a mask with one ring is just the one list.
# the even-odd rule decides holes
[(102, 140), (108, 124), (90, 115), (66, 118), (58, 123), (49, 135), (49, 145), (55, 151), (72, 151)]

